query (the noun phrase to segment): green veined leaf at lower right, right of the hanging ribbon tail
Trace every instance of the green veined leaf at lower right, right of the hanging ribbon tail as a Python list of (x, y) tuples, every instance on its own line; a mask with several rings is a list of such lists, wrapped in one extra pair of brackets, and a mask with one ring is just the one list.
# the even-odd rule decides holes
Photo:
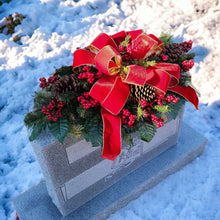
[(156, 133), (156, 128), (154, 125), (145, 123), (139, 128), (140, 138), (144, 141), (150, 142)]

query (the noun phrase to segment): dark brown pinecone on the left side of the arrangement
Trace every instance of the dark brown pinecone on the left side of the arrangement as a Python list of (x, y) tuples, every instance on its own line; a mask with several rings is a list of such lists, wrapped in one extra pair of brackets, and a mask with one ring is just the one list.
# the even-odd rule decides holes
[(66, 75), (64, 78), (61, 78), (54, 82), (52, 92), (55, 95), (60, 95), (68, 91), (79, 91), (79, 81), (75, 74)]

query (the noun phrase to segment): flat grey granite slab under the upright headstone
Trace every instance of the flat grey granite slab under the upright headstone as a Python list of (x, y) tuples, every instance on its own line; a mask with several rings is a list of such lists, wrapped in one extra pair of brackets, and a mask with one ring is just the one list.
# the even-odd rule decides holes
[(206, 142), (201, 134), (182, 123), (179, 141), (175, 146), (125, 176), (66, 217), (53, 204), (44, 181), (14, 198), (13, 203), (20, 220), (106, 219), (198, 157)]

